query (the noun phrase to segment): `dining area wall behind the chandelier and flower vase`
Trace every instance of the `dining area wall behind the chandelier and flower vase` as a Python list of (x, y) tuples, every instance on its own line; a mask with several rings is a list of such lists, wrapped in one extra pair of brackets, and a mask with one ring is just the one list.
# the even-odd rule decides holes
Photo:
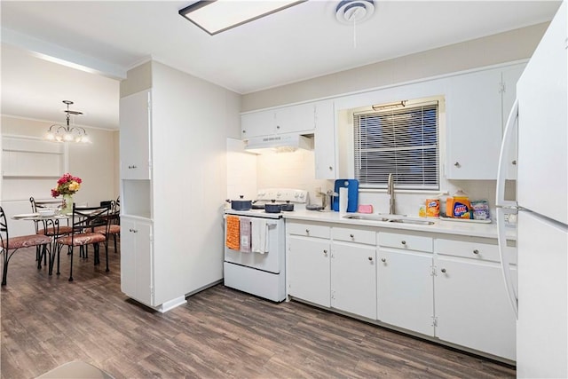
[[(43, 122), (3, 115), (3, 136), (43, 138), (53, 122)], [(72, 175), (82, 178), (83, 184), (75, 193), (76, 203), (98, 205), (99, 201), (116, 199), (118, 196), (118, 156), (116, 144), (118, 131), (85, 128), (91, 138), (90, 145), (69, 144), (67, 169)], [(0, 167), (2, 171), (6, 167)], [(29, 197), (51, 199), (51, 188), (58, 178), (4, 178), (2, 180), (2, 206), (9, 215), (28, 213)], [(9, 221), (13, 235), (31, 233), (30, 225)]]

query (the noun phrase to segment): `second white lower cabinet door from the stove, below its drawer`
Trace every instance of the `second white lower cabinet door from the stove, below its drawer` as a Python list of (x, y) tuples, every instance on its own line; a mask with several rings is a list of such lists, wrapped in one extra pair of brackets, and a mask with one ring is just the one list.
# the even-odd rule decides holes
[(331, 306), (376, 320), (374, 246), (334, 243), (331, 256)]

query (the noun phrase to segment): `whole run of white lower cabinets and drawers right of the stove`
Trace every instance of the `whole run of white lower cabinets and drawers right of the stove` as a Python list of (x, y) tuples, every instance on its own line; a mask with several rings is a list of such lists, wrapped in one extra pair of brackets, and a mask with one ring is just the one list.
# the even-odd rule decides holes
[(286, 225), (289, 296), (516, 359), (516, 318), (496, 240), (307, 221)]

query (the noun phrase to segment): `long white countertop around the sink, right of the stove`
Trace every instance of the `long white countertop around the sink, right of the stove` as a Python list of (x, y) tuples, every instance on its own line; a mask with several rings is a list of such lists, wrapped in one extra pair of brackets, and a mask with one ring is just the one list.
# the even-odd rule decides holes
[[(356, 213), (348, 213), (348, 215), (357, 215)], [(381, 229), (398, 229), (409, 230), (418, 232), (430, 233), (445, 233), (467, 235), (471, 237), (483, 238), (497, 238), (497, 225), (494, 221), (491, 224), (482, 224), (476, 222), (458, 222), (446, 220), (443, 218), (425, 218), (433, 221), (432, 225), (414, 225), (414, 224), (400, 224), (390, 223), (384, 221), (372, 221), (344, 218), (339, 212), (334, 211), (317, 211), (317, 210), (296, 210), (294, 212), (285, 212), (284, 218), (287, 220), (299, 221), (316, 221), (344, 225), (360, 225), (360, 226), (375, 226)], [(506, 231), (508, 240), (517, 240), (517, 233), (515, 228), (507, 228)]]

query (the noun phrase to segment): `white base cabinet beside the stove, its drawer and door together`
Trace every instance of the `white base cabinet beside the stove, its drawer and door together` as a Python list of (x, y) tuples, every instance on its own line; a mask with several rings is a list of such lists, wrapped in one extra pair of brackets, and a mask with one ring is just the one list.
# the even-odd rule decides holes
[(330, 306), (329, 226), (287, 223), (288, 295)]

